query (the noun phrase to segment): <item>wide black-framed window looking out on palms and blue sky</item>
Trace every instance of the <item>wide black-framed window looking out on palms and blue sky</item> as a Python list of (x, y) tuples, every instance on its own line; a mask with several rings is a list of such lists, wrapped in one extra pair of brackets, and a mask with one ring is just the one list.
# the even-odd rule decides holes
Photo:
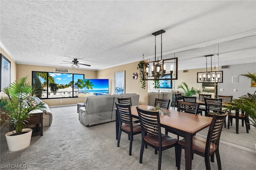
[(41, 99), (78, 97), (78, 79), (84, 79), (84, 75), (32, 71), (33, 84), (44, 89), (39, 94)]

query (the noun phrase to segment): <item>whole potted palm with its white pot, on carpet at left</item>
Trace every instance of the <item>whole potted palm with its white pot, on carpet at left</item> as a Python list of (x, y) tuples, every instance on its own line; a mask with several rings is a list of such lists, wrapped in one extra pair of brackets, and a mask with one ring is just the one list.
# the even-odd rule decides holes
[[(33, 95), (42, 90), (41, 87), (32, 87), (28, 83), (28, 77), (23, 77), (2, 89), (7, 95), (6, 103), (2, 108), (6, 113), (9, 126), (15, 130), (6, 133), (6, 141), (10, 151), (21, 150), (30, 145), (32, 129), (25, 128), (30, 112), (36, 109), (44, 109), (42, 101), (34, 101)], [(24, 141), (25, 140), (25, 141)]]

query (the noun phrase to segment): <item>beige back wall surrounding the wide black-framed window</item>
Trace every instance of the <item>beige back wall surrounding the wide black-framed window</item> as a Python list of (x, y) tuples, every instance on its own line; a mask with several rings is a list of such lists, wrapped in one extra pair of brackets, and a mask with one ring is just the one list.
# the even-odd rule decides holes
[[(59, 68), (59, 67), (58, 67)], [(32, 71), (47, 71), (47, 72), (56, 72), (56, 67), (47, 67), (47, 66), (38, 66), (38, 65), (24, 65), (17, 64), (17, 79), (28, 76), (32, 78)], [(74, 74), (84, 74), (86, 79), (96, 79), (96, 71), (83, 70), (83, 69), (68, 69), (68, 73)], [(44, 99), (45, 103), (49, 106), (58, 106), (58, 105), (71, 105), (77, 103), (83, 103), (84, 98), (66, 98), (66, 99)], [(62, 102), (61, 102), (62, 101)]]

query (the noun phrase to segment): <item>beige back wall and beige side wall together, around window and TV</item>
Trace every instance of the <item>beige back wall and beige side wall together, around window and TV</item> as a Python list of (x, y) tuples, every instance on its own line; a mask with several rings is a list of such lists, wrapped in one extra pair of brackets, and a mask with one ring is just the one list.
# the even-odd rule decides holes
[[(138, 62), (130, 63), (126, 65), (121, 65), (117, 67), (112, 67), (109, 69), (103, 69), (100, 71), (91, 71), (91, 70), (82, 70), (82, 69), (68, 69), (68, 73), (84, 74), (86, 79), (109, 79), (109, 94), (114, 94), (114, 73), (116, 71), (125, 71), (125, 93), (137, 93), (140, 95), (139, 104), (148, 103), (148, 87), (141, 89), (141, 84), (138, 79), (132, 79), (132, 74), (134, 72), (139, 73), (137, 70)], [(47, 71), (47, 72), (56, 72), (56, 67), (46, 67), (38, 65), (24, 65), (17, 64), (17, 79), (21, 77), (32, 77), (32, 71)], [(49, 106), (57, 105), (70, 105), (76, 103), (84, 102), (84, 98), (67, 98), (67, 99), (44, 99), (45, 103), (48, 103)], [(62, 101), (62, 103), (61, 103)]]

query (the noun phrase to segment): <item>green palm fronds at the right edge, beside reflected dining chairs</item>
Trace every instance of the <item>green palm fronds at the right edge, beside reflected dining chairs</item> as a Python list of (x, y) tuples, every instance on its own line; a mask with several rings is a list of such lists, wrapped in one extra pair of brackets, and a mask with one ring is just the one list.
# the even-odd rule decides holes
[[(251, 78), (256, 82), (256, 75), (248, 72), (248, 74), (241, 74), (242, 76)], [(252, 83), (253, 85), (253, 83)], [(252, 95), (247, 93), (247, 95), (243, 95), (238, 99), (233, 99), (230, 103), (227, 103), (223, 106), (224, 108), (231, 110), (240, 110), (245, 112), (251, 119), (250, 125), (256, 128), (256, 95)]]

